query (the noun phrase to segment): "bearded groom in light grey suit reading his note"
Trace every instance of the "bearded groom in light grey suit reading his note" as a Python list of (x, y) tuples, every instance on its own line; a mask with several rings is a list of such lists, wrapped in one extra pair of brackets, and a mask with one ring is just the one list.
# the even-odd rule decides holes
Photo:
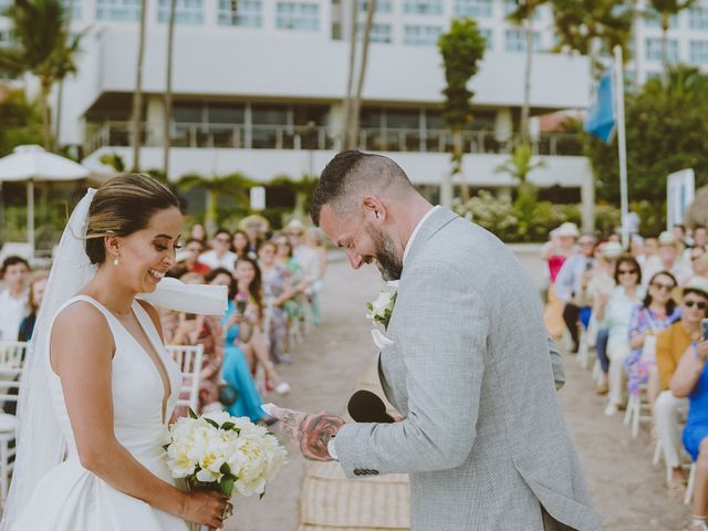
[(305, 457), (337, 459), (350, 478), (409, 473), (414, 531), (600, 530), (539, 296), (511, 251), (379, 155), (336, 155), (311, 212), (354, 269), (400, 280), (378, 368), (404, 420), (277, 408)]

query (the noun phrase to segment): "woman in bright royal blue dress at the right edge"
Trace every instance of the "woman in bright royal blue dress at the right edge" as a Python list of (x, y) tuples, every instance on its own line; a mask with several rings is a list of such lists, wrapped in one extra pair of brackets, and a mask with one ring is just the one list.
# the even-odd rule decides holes
[[(683, 292), (688, 322), (700, 322), (708, 308), (708, 281), (691, 282)], [(670, 389), (675, 397), (688, 397), (688, 418), (684, 429), (684, 447), (696, 462), (694, 483), (694, 518), (691, 531), (708, 531), (708, 341), (702, 326), (691, 326), (691, 344), (681, 355), (671, 377)]]

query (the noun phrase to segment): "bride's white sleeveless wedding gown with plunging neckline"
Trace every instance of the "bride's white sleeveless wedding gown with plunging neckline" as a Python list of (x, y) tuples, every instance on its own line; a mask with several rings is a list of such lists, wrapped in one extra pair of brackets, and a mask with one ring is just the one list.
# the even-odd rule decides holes
[[(165, 410), (165, 385), (159, 369), (140, 343), (103, 305), (86, 295), (64, 303), (60, 311), (76, 301), (93, 304), (104, 315), (115, 341), (112, 365), (112, 391), (115, 436), (143, 466), (171, 485), (162, 446), (167, 424), (175, 409), (181, 376), (167, 354), (147, 312), (138, 302), (133, 311), (159, 355), (168, 375), (171, 393)], [(59, 312), (56, 312), (59, 313)], [(77, 339), (77, 341), (80, 341)], [(71, 428), (61, 381), (46, 364), (52, 405), (66, 439), (66, 459), (39, 482), (12, 531), (186, 531), (180, 518), (154, 509), (128, 496), (81, 466)], [(27, 441), (25, 444), (32, 444)]]

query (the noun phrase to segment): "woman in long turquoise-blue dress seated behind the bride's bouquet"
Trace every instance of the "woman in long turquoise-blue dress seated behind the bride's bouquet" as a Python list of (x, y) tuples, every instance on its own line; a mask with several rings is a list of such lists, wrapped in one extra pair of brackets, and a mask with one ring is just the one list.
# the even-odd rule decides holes
[(238, 392), (236, 402), (227, 407), (233, 417), (249, 417), (252, 421), (267, 420), (267, 415), (261, 409), (263, 400), (256, 388), (243, 351), (238, 346), (239, 340), (239, 311), (233, 302), (236, 281), (226, 269), (215, 269), (208, 274), (210, 284), (226, 285), (229, 288), (229, 309), (221, 320), (226, 334), (223, 347), (223, 365), (221, 377)]

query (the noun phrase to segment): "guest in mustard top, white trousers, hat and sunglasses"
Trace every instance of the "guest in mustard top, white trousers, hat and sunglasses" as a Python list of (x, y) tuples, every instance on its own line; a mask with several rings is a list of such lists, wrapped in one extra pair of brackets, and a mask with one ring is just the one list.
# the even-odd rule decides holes
[[(701, 320), (706, 317), (708, 304), (708, 283), (701, 280), (690, 281), (679, 290), (681, 319), (656, 340), (656, 365), (663, 389), (670, 389), (671, 378), (684, 354), (693, 352), (691, 344), (702, 336)], [(654, 406), (657, 435), (662, 441), (666, 466), (671, 471), (669, 493), (680, 500), (686, 491), (686, 477), (680, 467), (681, 420), (687, 400), (671, 391), (659, 394)]]

